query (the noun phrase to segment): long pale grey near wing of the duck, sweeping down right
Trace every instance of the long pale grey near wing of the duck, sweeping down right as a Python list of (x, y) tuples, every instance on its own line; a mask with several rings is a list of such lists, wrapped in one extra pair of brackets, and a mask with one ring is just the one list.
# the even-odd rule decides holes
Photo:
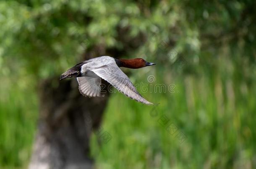
[(125, 75), (125, 73), (123, 73), (123, 71), (121, 71), (115, 62), (108, 63), (97, 68), (87, 67), (87, 69), (93, 71), (99, 77), (108, 81), (110, 84), (112, 84), (112, 86), (117, 88), (118, 91), (122, 92), (129, 98), (144, 104), (153, 104), (138, 93), (133, 83), (131, 83), (130, 79)]

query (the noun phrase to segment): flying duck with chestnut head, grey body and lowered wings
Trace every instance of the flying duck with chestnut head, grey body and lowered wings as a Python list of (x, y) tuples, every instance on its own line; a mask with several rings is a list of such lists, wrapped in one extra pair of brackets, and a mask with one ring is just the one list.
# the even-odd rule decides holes
[(153, 103), (150, 103), (138, 93), (128, 76), (119, 67), (137, 69), (152, 65), (155, 65), (155, 63), (149, 63), (142, 58), (117, 59), (110, 56), (101, 56), (76, 64), (63, 73), (60, 80), (76, 77), (80, 93), (83, 96), (95, 97), (101, 96), (100, 85), (101, 78), (103, 78), (125, 96), (150, 105)]

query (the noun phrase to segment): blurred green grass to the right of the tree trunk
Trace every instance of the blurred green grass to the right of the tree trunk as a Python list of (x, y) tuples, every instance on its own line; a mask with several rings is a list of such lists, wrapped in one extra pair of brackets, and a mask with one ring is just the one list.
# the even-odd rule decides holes
[[(91, 140), (97, 168), (255, 168), (255, 88), (241, 93), (234, 86), (225, 92), (226, 83), (217, 80), (176, 80), (175, 93), (147, 94), (160, 102), (155, 107), (113, 94), (103, 122), (112, 139), (101, 145), (96, 135)], [(162, 115), (185, 141), (159, 123)]]

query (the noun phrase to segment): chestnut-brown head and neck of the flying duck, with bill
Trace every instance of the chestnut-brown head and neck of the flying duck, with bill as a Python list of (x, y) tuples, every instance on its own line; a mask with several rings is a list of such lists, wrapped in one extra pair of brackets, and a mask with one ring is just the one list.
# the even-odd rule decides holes
[(132, 69), (143, 68), (146, 66), (152, 66), (156, 64), (156, 63), (147, 62), (142, 58), (119, 59), (118, 61), (116, 61), (116, 63), (119, 67), (132, 68)]

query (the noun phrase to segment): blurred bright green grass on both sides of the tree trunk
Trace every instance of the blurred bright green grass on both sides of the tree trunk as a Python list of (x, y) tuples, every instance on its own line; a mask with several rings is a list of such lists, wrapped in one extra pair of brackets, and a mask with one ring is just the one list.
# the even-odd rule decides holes
[[(2, 168), (26, 168), (31, 154), (38, 101), (32, 84), (23, 81), (1, 85)], [(157, 83), (164, 80), (149, 84)], [(255, 168), (256, 86), (218, 76), (174, 78), (172, 83), (174, 93), (143, 93), (157, 106), (112, 94), (102, 124), (112, 139), (105, 144), (95, 134), (91, 139), (97, 168)]]

